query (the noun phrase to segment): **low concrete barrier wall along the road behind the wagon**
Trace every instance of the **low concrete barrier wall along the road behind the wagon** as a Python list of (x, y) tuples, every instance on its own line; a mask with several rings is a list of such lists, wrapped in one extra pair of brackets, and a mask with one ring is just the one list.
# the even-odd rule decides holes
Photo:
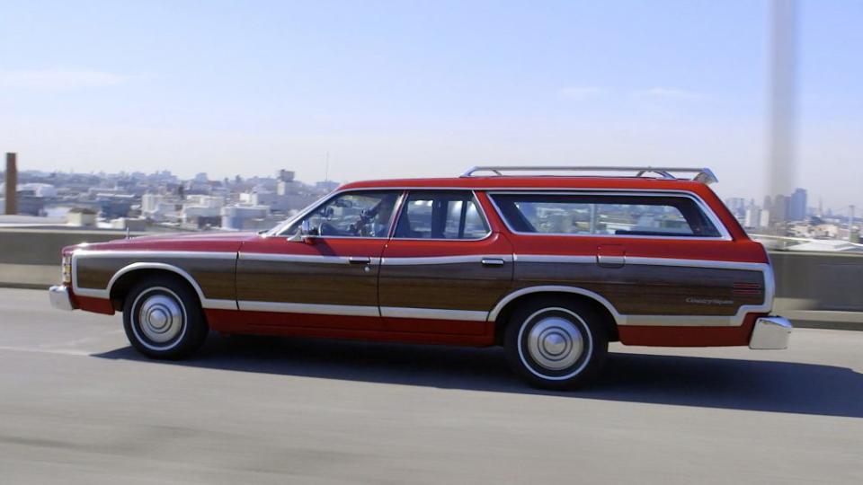
[[(0, 228), (0, 286), (49, 287), (60, 250), (126, 237), (122, 231)], [(863, 255), (772, 251), (775, 312), (796, 325), (863, 330)]]

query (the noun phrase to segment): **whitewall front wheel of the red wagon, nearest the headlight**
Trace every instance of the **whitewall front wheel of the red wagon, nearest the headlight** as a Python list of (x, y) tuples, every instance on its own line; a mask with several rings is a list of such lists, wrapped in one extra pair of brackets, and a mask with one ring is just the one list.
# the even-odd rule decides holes
[(123, 303), (123, 329), (141, 354), (171, 360), (191, 356), (209, 332), (198, 295), (169, 276), (147, 278), (131, 288)]

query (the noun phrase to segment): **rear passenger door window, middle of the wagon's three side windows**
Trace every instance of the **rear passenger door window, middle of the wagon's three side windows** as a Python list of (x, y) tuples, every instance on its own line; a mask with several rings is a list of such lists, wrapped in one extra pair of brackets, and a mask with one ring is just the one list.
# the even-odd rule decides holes
[(472, 192), (418, 190), (408, 194), (394, 237), (482, 239), (488, 232), (485, 216)]

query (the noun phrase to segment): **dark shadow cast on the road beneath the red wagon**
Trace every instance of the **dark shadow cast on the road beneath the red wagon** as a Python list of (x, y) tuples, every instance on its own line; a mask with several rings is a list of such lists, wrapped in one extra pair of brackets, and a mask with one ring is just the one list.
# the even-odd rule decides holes
[[(148, 360), (131, 347), (93, 357)], [(502, 348), (211, 335), (187, 360), (151, 361), (351, 381), (863, 418), (863, 374), (850, 368), (729, 358), (609, 353), (601, 376), (574, 392), (530, 388)]]

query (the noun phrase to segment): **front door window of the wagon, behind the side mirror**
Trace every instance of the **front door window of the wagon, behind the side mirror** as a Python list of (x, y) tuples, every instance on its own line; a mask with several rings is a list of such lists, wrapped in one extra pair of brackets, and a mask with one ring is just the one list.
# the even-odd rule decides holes
[(387, 237), (401, 191), (347, 192), (331, 198), (290, 226), (295, 234), (308, 221), (309, 234), (335, 237)]

